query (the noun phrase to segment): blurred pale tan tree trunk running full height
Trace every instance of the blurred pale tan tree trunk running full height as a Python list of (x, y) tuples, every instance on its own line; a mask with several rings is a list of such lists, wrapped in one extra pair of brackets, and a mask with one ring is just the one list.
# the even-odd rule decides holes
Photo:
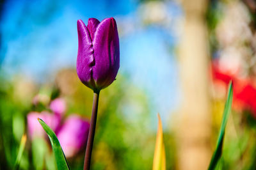
[(211, 159), (209, 52), (205, 23), (206, 0), (183, 0), (184, 30), (179, 47), (182, 110), (178, 134), (178, 167), (207, 169)]

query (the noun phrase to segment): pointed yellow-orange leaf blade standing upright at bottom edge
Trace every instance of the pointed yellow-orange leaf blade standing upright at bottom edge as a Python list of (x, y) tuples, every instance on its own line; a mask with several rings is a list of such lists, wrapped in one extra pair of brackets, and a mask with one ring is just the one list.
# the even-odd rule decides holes
[(164, 141), (163, 141), (163, 127), (162, 121), (157, 114), (158, 117), (158, 129), (156, 135), (156, 148), (154, 153), (153, 160), (153, 170), (165, 170), (166, 169), (166, 160), (165, 160), (165, 150), (164, 150)]

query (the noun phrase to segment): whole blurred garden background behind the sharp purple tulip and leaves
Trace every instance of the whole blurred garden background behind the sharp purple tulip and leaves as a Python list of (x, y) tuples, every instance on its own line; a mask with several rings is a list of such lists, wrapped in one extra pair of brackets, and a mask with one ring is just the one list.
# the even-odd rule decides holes
[(207, 169), (228, 82), (234, 102), (219, 169), (256, 169), (254, 0), (0, 1), (0, 169), (56, 169), (36, 118), (82, 169), (93, 91), (76, 74), (82, 19), (114, 17), (116, 81), (100, 92), (92, 169), (152, 169), (157, 112), (167, 169)]

